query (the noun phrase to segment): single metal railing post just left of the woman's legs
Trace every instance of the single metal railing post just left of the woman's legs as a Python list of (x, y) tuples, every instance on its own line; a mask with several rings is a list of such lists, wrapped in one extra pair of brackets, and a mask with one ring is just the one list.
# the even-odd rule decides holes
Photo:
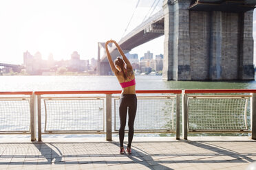
[(112, 97), (111, 94), (106, 95), (106, 140), (112, 141), (112, 115), (111, 115)]

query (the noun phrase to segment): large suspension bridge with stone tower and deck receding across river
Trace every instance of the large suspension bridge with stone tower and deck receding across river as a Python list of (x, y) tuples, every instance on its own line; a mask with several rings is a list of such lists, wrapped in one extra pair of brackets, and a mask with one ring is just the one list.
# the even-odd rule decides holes
[[(164, 0), (118, 42), (125, 53), (164, 35), (164, 80), (254, 80), (254, 0)], [(98, 75), (111, 69), (98, 43)], [(119, 55), (110, 47), (112, 59)], [(101, 58), (100, 58), (101, 57)]]

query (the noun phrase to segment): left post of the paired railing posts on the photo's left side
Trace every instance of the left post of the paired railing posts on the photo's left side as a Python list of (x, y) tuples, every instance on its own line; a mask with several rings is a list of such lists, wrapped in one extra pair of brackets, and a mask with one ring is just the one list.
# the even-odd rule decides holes
[(31, 141), (36, 141), (36, 100), (34, 92), (30, 95), (30, 131)]

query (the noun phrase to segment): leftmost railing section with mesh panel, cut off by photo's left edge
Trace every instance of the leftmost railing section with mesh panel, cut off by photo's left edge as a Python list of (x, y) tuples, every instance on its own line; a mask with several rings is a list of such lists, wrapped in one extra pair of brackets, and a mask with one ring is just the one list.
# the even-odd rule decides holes
[(0, 92), (0, 134), (30, 134), (36, 137), (36, 115), (32, 91)]

